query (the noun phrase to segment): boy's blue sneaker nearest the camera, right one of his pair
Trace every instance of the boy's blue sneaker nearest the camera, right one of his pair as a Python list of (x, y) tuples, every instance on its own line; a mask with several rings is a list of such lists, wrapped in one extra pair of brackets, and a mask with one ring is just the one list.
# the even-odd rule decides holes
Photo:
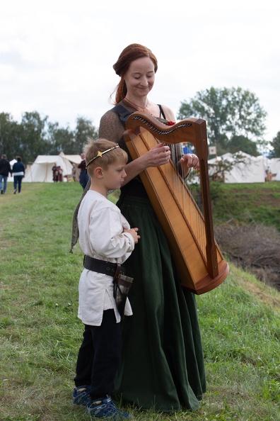
[(127, 420), (130, 415), (117, 409), (110, 396), (100, 399), (88, 398), (86, 413), (96, 418), (110, 418), (110, 420)]

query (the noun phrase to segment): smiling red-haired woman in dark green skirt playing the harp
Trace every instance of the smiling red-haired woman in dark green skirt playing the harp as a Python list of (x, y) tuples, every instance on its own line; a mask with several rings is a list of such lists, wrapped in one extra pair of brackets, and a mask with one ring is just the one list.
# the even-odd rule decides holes
[[(113, 68), (120, 77), (117, 106), (101, 118), (99, 136), (119, 142), (127, 150), (122, 135), (131, 113), (145, 111), (162, 123), (175, 121), (175, 116), (167, 106), (148, 100), (158, 69), (151, 50), (129, 45)], [(141, 408), (165, 412), (182, 407), (197, 410), (206, 391), (195, 296), (180, 286), (168, 242), (139, 177), (148, 167), (166, 164), (171, 155), (170, 147), (160, 143), (146, 155), (134, 161), (130, 158), (125, 168), (126, 185), (117, 203), (124, 217), (143, 235), (125, 263), (127, 274), (134, 278), (129, 292), (134, 315), (124, 318), (122, 325), (116, 393)], [(181, 154), (180, 166), (186, 171), (198, 168), (197, 156)]]

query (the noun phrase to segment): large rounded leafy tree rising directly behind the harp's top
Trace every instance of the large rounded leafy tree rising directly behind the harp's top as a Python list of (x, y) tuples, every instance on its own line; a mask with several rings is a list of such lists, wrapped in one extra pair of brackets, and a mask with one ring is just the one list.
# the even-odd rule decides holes
[[(183, 101), (177, 118), (203, 118), (207, 123), (210, 145), (217, 146), (217, 152), (228, 152), (231, 140), (243, 136), (244, 139), (262, 145), (267, 113), (259, 105), (252, 92), (238, 88), (215, 89), (197, 92), (189, 103)], [(245, 152), (245, 151), (243, 151)]]

